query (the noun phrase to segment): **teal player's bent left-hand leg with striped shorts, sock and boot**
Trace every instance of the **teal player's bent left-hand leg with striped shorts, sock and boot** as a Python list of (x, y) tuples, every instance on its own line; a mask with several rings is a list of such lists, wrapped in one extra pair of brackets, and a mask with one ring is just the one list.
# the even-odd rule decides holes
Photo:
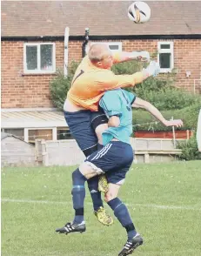
[[(111, 142), (108, 145), (105, 145), (103, 149), (92, 153), (85, 159), (84, 163), (72, 173), (72, 200), (73, 208), (75, 210), (75, 218), (71, 223), (67, 223), (64, 227), (58, 228), (56, 232), (69, 233), (85, 231), (85, 181), (124, 164), (124, 156), (122, 158), (121, 152), (123, 148), (119, 148), (118, 144), (121, 145), (118, 141)], [(116, 154), (117, 158), (114, 158)], [(82, 227), (81, 230), (80, 226)]]

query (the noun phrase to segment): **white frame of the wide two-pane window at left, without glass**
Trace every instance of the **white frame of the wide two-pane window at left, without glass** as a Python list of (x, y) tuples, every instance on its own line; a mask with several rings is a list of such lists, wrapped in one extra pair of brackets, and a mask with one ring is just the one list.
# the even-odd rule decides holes
[[(52, 71), (45, 71), (41, 69), (37, 70), (27, 70), (26, 65), (26, 46), (37, 46), (37, 67), (40, 66), (41, 62), (41, 56), (40, 56), (40, 45), (43, 44), (51, 44), (53, 45), (52, 48)], [(24, 74), (52, 74), (56, 72), (56, 49), (55, 49), (55, 43), (25, 43), (23, 44), (23, 73)]]

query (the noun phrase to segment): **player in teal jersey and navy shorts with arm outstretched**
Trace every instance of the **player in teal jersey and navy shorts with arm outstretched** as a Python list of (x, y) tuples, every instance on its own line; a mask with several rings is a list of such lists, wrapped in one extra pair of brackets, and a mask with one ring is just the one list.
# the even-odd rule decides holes
[(125, 256), (133, 253), (137, 246), (143, 244), (143, 239), (131, 220), (127, 206), (117, 197), (119, 188), (124, 184), (126, 173), (129, 171), (133, 161), (133, 151), (130, 144), (132, 132), (131, 107), (144, 108), (150, 111), (153, 116), (166, 126), (181, 126), (183, 122), (181, 120), (166, 120), (152, 104), (121, 89), (105, 92), (99, 104), (109, 118), (109, 128), (103, 132), (104, 147), (92, 153), (72, 173), (75, 219), (72, 222), (68, 222), (64, 227), (58, 228), (56, 232), (66, 234), (70, 232), (85, 232), (84, 183), (87, 179), (104, 173), (109, 183), (109, 190), (105, 193), (105, 201), (111, 207), (114, 215), (128, 235), (123, 250), (118, 254), (119, 256)]

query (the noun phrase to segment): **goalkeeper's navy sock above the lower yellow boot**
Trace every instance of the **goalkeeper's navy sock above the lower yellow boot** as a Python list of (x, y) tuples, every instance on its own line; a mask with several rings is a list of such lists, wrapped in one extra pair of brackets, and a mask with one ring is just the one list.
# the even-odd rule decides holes
[(90, 190), (90, 196), (91, 196), (91, 199), (93, 202), (94, 211), (97, 211), (97, 209), (100, 206), (102, 206), (102, 207), (104, 206), (103, 201), (101, 199), (101, 192), (99, 192), (97, 189), (98, 188), (98, 176), (88, 179), (87, 182), (88, 182), (88, 187)]

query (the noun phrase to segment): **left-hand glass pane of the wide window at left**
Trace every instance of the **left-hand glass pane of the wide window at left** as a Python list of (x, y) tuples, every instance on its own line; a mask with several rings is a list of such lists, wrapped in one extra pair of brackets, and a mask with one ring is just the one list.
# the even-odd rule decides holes
[(37, 70), (37, 46), (26, 46), (27, 70)]

